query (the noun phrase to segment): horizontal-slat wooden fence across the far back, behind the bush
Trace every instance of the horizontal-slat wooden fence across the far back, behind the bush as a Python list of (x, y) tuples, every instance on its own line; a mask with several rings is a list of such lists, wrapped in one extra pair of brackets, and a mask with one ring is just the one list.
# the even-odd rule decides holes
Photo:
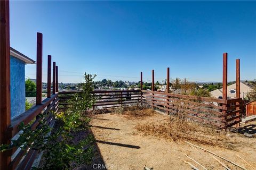
[[(59, 92), (60, 108), (68, 108), (68, 99), (70, 99), (77, 92), (80, 93), (81, 91)], [(131, 106), (142, 103), (141, 90), (92, 91), (92, 95), (94, 95), (94, 97), (96, 98), (93, 109), (114, 108), (121, 105)]]

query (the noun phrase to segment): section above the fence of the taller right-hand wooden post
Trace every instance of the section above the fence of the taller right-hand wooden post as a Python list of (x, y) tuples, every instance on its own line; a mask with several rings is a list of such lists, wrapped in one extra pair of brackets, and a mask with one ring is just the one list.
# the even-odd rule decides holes
[(223, 53), (223, 80), (222, 80), (222, 99), (227, 100), (227, 84), (228, 84), (228, 53)]

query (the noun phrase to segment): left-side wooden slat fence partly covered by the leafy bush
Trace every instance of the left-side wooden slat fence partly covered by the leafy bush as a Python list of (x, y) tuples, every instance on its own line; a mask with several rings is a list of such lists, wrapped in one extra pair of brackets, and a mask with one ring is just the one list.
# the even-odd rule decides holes
[[(19, 131), (18, 126), (22, 122), (25, 125), (30, 124), (31, 130), (40, 128), (38, 125), (41, 118), (37, 115), (41, 113), (45, 116), (46, 124), (51, 124), (54, 120), (53, 112), (58, 112), (58, 105), (58, 94), (54, 94), (50, 98), (43, 100), (42, 104), (35, 105), (25, 113), (13, 118), (13, 120), (11, 120), (11, 126), (7, 129), (10, 135), (9, 138), (17, 140), (20, 137), (22, 131)], [(12, 148), (8, 153), (8, 155), (11, 156), (11, 163), (8, 169), (30, 169), (37, 154), (38, 151), (31, 148), (26, 148), (25, 150)]]

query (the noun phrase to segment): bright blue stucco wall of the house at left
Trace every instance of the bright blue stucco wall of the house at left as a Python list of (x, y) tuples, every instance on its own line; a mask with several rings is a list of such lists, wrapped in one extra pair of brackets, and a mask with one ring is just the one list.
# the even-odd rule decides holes
[(25, 62), (11, 56), (11, 118), (25, 112)]

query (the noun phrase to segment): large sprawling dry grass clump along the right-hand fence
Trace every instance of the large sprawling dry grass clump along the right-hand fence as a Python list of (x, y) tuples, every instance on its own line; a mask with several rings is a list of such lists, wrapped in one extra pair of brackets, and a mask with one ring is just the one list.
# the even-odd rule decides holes
[(204, 145), (217, 146), (227, 149), (235, 149), (236, 143), (226, 132), (198, 125), (196, 123), (170, 118), (165, 124), (144, 124), (135, 126), (139, 132), (145, 135), (154, 135), (159, 138), (172, 139), (173, 141), (193, 141)]

